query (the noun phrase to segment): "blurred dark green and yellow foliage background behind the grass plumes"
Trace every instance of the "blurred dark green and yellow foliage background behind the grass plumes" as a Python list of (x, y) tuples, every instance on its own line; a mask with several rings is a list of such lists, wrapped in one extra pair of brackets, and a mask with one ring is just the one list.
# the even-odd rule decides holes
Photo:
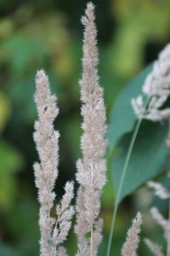
[[(57, 200), (65, 181), (75, 179), (75, 162), (81, 156), (82, 134), (79, 85), (82, 57), (82, 25), (87, 1), (0, 0), (0, 255), (38, 255), (38, 203), (32, 164), (37, 160), (32, 132), (37, 117), (33, 95), (37, 69), (44, 68), (59, 99), (55, 128), (59, 139)], [(96, 5), (99, 39), (99, 76), (105, 88), (109, 114), (123, 86), (154, 61), (170, 40), (170, 1), (101, 0)], [(111, 168), (102, 198), (105, 220), (105, 255), (114, 204)], [(120, 247), (131, 218), (144, 213), (144, 231), (156, 236), (148, 206), (151, 195), (139, 189), (122, 202), (116, 220), (114, 249)], [(166, 209), (165, 209), (166, 210)], [(160, 230), (158, 230), (160, 232)], [(161, 241), (161, 237), (158, 241)], [(73, 232), (67, 242), (76, 251)], [(150, 255), (144, 246), (140, 254)], [(142, 254), (141, 254), (142, 255)]]

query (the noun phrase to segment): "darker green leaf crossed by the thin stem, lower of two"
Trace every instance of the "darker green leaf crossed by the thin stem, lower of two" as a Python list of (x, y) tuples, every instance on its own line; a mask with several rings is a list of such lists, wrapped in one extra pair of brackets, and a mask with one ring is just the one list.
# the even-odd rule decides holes
[[(169, 153), (164, 145), (167, 129), (167, 122), (142, 122), (127, 166), (120, 201), (141, 184), (155, 177), (159, 172), (165, 171)], [(121, 181), (122, 168), (131, 137), (132, 132), (122, 137), (122, 140), (118, 144), (120, 152), (113, 159), (112, 172), (116, 194)]]

